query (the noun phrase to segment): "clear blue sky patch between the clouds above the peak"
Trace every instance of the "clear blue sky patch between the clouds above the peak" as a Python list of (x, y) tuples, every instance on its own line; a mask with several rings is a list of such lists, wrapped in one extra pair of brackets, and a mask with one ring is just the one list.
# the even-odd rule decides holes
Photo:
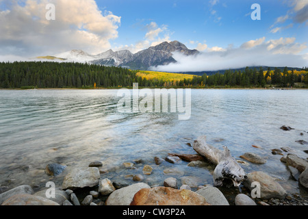
[[(251, 5), (261, 6), (261, 21), (251, 19)], [(286, 1), (97, 1), (101, 10), (108, 10), (121, 16), (118, 28), (119, 37), (112, 41), (120, 44), (135, 44), (144, 40), (146, 24), (166, 25), (170, 40), (179, 40), (194, 49), (196, 42), (206, 43), (208, 47), (239, 47), (243, 42), (266, 37), (266, 39), (296, 38), (296, 42), (307, 42), (307, 23), (294, 23), (288, 19), (274, 27), (288, 27), (272, 33), (271, 26), (277, 18), (285, 16), (292, 9)], [(194, 41), (192, 44), (190, 42)], [(305, 50), (307, 52), (307, 49)]]

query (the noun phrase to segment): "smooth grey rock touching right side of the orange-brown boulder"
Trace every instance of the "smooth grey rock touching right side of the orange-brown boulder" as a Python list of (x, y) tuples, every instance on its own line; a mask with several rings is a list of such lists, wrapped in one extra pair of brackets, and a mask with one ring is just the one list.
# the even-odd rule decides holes
[(207, 186), (196, 191), (196, 193), (203, 196), (207, 203), (211, 205), (229, 205), (227, 198), (216, 187)]

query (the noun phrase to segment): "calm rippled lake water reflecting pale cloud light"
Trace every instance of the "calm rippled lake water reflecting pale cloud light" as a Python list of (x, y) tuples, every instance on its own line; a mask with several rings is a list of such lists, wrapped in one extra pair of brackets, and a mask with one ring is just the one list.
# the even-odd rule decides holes
[[(246, 152), (266, 157), (263, 165), (242, 165), (246, 172), (262, 170), (279, 178), (287, 192), (305, 194), (290, 178), (281, 155), (271, 149), (290, 147), (308, 157), (296, 140), (308, 141), (308, 90), (192, 90), (192, 116), (178, 120), (177, 113), (120, 113), (118, 90), (0, 90), (0, 185), (29, 184), (44, 187), (47, 181), (62, 185), (65, 174), (99, 160), (109, 170), (101, 177), (133, 183), (144, 164), (153, 167), (145, 176), (149, 185), (162, 185), (168, 168), (175, 177), (198, 177), (212, 184), (211, 165), (192, 168), (187, 162), (155, 165), (153, 157), (168, 153), (195, 154), (187, 143), (207, 136), (209, 144), (228, 146), (236, 159)], [(283, 131), (282, 125), (294, 130)], [(303, 136), (300, 135), (303, 133)], [(252, 145), (261, 146), (257, 149)], [(286, 154), (286, 153), (285, 153)], [(136, 169), (123, 168), (133, 162)], [(68, 166), (57, 177), (44, 173), (47, 164)]]

